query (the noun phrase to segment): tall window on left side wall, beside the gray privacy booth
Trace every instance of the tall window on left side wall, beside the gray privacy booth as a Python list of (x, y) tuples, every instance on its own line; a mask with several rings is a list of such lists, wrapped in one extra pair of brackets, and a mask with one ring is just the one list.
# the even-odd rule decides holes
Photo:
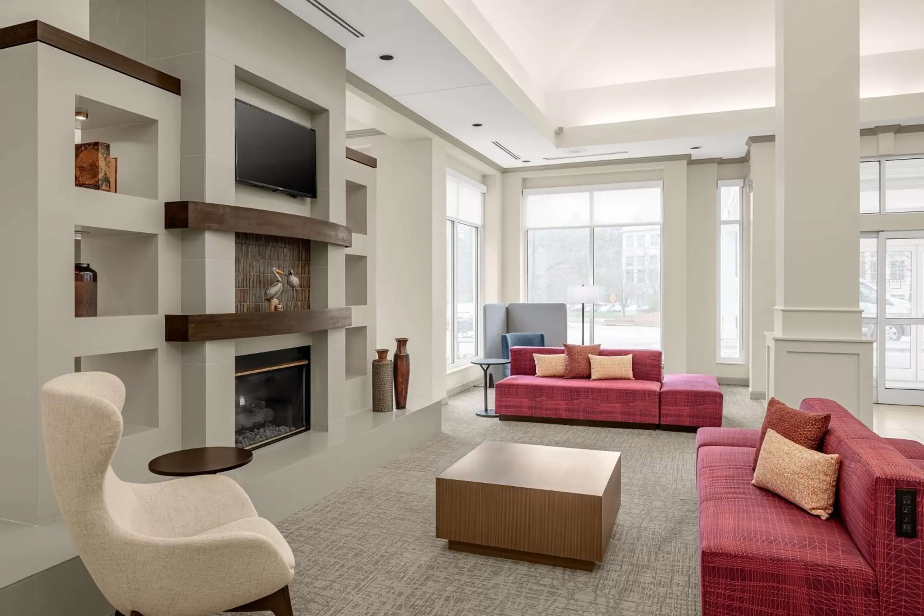
[(483, 193), (446, 177), (446, 365), (479, 355)]

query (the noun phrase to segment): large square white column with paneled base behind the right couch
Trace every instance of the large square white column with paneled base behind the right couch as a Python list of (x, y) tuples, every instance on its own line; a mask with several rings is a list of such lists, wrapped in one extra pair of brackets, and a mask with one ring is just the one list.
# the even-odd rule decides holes
[(859, 0), (776, 2), (776, 307), (770, 394), (872, 421), (860, 339)]

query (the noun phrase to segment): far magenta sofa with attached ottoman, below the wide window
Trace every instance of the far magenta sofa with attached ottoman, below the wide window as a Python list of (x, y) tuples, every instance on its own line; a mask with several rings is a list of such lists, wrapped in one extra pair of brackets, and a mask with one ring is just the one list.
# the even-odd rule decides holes
[(510, 376), (497, 382), (494, 407), (501, 418), (535, 417), (678, 427), (721, 426), (722, 390), (715, 377), (663, 376), (661, 351), (602, 349), (602, 356), (632, 355), (633, 380), (537, 377), (533, 354), (565, 349), (515, 346)]

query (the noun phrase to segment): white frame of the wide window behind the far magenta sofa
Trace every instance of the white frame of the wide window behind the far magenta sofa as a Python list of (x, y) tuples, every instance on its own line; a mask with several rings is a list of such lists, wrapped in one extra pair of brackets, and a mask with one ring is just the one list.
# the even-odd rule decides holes
[[(661, 218), (657, 222), (649, 223), (621, 223), (621, 224), (594, 224), (593, 223), (593, 194), (595, 192), (602, 192), (607, 190), (633, 190), (637, 188), (660, 188), (661, 189)], [(564, 194), (572, 192), (589, 192), (590, 193), (590, 210), (589, 218), (587, 224), (563, 224), (553, 227), (529, 227), (526, 224), (526, 198), (530, 195), (554, 195), (554, 194)], [(663, 180), (650, 180), (643, 182), (622, 182), (618, 184), (594, 184), (590, 186), (586, 185), (576, 185), (576, 186), (565, 186), (565, 187), (548, 187), (548, 188), (524, 188), (523, 189), (523, 201), (522, 201), (522, 210), (521, 214), (523, 216), (522, 220), (522, 229), (523, 229), (523, 287), (522, 292), (526, 296), (526, 301), (529, 302), (529, 232), (530, 231), (560, 231), (563, 229), (588, 229), (590, 231), (590, 280), (587, 284), (594, 284), (596, 280), (596, 260), (594, 259), (594, 231), (596, 229), (607, 229), (612, 227), (638, 227), (638, 226), (658, 226), (660, 229), (659, 232), (659, 241), (658, 241), (658, 272), (660, 279), (658, 281), (658, 288), (661, 290), (661, 324), (658, 326), (661, 334), (660, 346), (663, 352), (664, 349), (664, 270), (663, 270), (663, 257), (664, 257), (664, 182)], [(646, 262), (644, 267), (648, 267)], [(623, 272), (625, 275), (625, 271)], [(633, 276), (635, 275), (633, 271)], [(588, 344), (594, 344), (594, 305), (590, 304), (590, 342)]]

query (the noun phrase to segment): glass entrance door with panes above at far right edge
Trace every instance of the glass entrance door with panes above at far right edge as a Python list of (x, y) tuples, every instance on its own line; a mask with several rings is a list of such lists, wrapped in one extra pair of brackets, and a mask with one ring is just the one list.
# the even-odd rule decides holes
[[(882, 157), (860, 163), (860, 211), (924, 212), (924, 159)], [(880, 228), (889, 224), (885, 222)], [(922, 405), (924, 230), (905, 230), (906, 223), (894, 228), (860, 237), (863, 335), (876, 341), (877, 401)]]

